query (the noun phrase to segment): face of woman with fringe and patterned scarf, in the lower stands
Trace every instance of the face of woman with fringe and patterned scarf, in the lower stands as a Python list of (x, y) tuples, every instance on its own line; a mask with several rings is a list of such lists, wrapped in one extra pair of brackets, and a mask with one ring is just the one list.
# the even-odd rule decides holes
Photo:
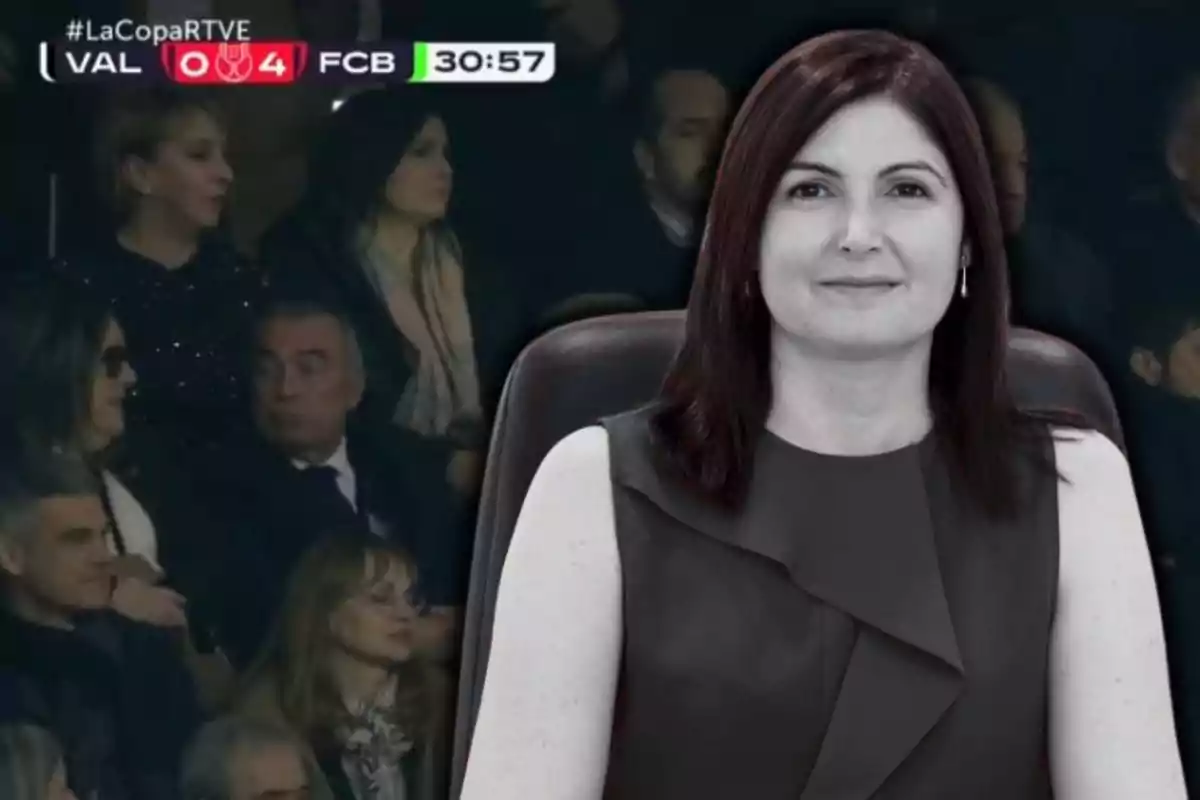
[[(386, 569), (380, 559), (386, 559)], [(413, 578), (396, 559), (367, 557), (364, 584), (338, 606), (330, 620), (334, 640), (350, 656), (391, 667), (413, 655)]]

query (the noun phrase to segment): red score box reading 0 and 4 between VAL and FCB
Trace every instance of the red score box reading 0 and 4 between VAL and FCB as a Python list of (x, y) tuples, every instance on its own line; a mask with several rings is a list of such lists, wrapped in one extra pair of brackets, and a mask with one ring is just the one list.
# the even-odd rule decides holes
[(168, 42), (163, 71), (180, 84), (289, 84), (304, 74), (304, 42)]

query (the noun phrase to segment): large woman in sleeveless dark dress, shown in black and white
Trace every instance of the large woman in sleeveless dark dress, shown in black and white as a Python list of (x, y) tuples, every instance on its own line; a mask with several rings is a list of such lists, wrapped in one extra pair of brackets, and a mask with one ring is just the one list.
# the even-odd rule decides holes
[(1015, 407), (1006, 271), (925, 47), (768, 68), (658, 401), (526, 497), (463, 800), (1186, 798), (1129, 467)]

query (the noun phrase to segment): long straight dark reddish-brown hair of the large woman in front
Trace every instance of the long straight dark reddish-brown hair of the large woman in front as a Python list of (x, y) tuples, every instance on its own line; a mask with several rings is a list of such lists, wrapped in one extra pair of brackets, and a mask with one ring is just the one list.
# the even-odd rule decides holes
[(894, 34), (851, 30), (809, 40), (751, 89), (718, 170), (684, 344), (654, 417), (683, 479), (736, 506), (772, 401), (772, 318), (758, 283), (760, 231), (787, 164), (838, 110), (887, 96), (944, 151), (964, 205), (970, 287), (934, 332), (930, 397), (936, 435), (964, 488), (986, 510), (1015, 504), (1012, 457), (1024, 426), (1004, 381), (1008, 267), (979, 125), (946, 66)]

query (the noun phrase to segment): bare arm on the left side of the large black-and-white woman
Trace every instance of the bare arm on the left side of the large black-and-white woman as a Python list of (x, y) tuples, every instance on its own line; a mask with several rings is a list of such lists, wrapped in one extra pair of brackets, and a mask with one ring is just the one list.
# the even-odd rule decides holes
[(608, 437), (558, 443), (500, 578), (462, 800), (599, 800), (622, 649)]

